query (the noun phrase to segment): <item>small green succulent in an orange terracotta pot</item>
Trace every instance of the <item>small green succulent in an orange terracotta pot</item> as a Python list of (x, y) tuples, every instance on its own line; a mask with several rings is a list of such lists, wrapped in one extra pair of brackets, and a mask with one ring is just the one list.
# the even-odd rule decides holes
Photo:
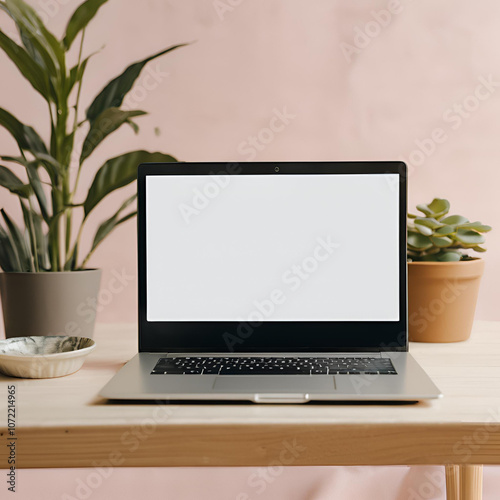
[(423, 216), (408, 220), (409, 338), (459, 342), (472, 329), (484, 261), (483, 233), (491, 230), (461, 215), (448, 215), (448, 200), (417, 205)]

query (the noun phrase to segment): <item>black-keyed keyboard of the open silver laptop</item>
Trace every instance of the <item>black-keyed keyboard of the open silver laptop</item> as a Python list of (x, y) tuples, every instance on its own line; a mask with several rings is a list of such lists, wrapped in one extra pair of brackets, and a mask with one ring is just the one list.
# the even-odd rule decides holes
[(172, 357), (153, 375), (396, 375), (390, 359), (375, 357)]

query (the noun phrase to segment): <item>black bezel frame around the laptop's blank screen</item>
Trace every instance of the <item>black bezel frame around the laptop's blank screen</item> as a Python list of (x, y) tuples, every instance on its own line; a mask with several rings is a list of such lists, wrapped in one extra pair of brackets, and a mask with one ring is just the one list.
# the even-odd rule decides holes
[[(146, 177), (167, 175), (399, 176), (399, 321), (264, 321), (238, 330), (234, 321), (147, 321)], [(407, 167), (403, 162), (149, 163), (138, 168), (139, 352), (407, 351)], [(367, 214), (370, 217), (370, 214)], [(370, 258), (367, 252), (367, 258)], [(376, 265), (376, 262), (373, 263)]]

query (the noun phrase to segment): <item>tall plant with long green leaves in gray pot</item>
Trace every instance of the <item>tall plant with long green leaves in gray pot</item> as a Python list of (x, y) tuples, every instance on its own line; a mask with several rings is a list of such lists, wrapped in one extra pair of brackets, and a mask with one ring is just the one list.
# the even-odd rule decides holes
[[(80, 95), (87, 63), (85, 28), (106, 0), (88, 0), (71, 16), (62, 40), (47, 30), (22, 0), (0, 2), (19, 32), (19, 43), (0, 31), (0, 48), (47, 103), (50, 138), (46, 142), (29, 125), (0, 108), (0, 126), (17, 142), (19, 154), (1, 156), (0, 186), (19, 198), (24, 224), (3, 208), (0, 216), (0, 293), (7, 337), (69, 334), (90, 337), (94, 317), (82, 305), (96, 303), (100, 270), (87, 269), (90, 256), (113, 229), (136, 215), (136, 195), (127, 198), (98, 227), (90, 249), (82, 254), (82, 231), (98, 204), (136, 178), (142, 162), (176, 161), (170, 155), (130, 151), (107, 160), (83, 199), (77, 195), (82, 169), (92, 152), (122, 125), (138, 126), (146, 114), (122, 103), (144, 66), (175, 45), (128, 66), (99, 92), (81, 116)], [(79, 38), (78, 59), (68, 52)], [(21, 177), (5, 166), (17, 164)], [(70, 169), (70, 165), (74, 168)], [(79, 213), (77, 213), (79, 212)], [(92, 303), (92, 302), (91, 302)]]

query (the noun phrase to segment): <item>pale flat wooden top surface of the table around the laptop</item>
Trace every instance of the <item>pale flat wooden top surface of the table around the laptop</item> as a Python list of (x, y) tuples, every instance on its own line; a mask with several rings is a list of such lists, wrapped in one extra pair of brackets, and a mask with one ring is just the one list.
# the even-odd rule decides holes
[[(109, 403), (99, 390), (137, 352), (135, 325), (101, 324), (96, 349), (83, 368), (42, 380), (0, 375), (2, 393), (16, 385), (18, 426), (134, 424), (149, 404)], [(410, 352), (444, 397), (398, 404), (189, 404), (169, 405), (167, 425), (196, 423), (463, 423), (500, 421), (500, 322), (476, 322), (471, 338), (450, 344), (411, 343)], [(5, 408), (6, 399), (0, 400)], [(1, 425), (1, 423), (0, 423)]]

